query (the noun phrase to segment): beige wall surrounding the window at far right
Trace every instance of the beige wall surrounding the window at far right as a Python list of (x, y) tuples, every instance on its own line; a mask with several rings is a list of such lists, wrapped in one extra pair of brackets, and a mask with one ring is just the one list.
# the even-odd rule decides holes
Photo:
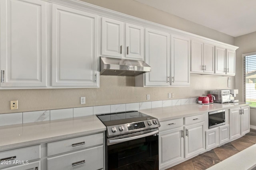
[[(243, 58), (242, 54), (256, 51), (256, 32), (235, 38), (236, 50), (236, 76), (235, 88), (238, 89), (238, 99), (243, 101)], [(250, 124), (256, 126), (256, 109), (250, 109)]]

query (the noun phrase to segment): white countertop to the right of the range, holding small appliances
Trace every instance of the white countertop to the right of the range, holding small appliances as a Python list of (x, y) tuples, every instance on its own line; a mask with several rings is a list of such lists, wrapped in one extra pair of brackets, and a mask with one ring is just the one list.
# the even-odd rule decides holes
[(208, 105), (202, 104), (187, 104), (170, 107), (158, 107), (152, 109), (142, 109), (140, 112), (158, 118), (158, 121), (166, 121), (171, 119), (177, 119), (181, 117), (187, 117), (192, 115), (198, 115), (209, 111), (216, 111), (221, 109), (229, 109), (234, 107), (248, 106), (248, 103), (214, 103)]

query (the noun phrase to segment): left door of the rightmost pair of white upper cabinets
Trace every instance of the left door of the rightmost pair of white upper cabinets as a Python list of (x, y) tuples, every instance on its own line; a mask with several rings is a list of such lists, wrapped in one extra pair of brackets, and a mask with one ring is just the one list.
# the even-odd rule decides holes
[(226, 49), (215, 47), (215, 73), (226, 74)]

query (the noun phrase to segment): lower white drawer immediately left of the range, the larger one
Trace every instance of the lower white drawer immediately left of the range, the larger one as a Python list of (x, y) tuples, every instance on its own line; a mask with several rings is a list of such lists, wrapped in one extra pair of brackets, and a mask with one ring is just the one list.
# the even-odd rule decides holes
[(103, 145), (47, 158), (48, 170), (99, 170), (103, 168)]

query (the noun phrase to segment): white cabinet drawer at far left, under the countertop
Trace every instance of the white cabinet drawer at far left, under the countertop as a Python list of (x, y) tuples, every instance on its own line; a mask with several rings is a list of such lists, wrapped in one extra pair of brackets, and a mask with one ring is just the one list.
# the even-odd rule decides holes
[(30, 160), (35, 160), (41, 158), (40, 145), (13, 149), (4, 152), (0, 152), (0, 162), (6, 161), (8, 164), (0, 164), (0, 168), (4, 168), (6, 166), (10, 166), (15, 161), (26, 161), (30, 162)]

